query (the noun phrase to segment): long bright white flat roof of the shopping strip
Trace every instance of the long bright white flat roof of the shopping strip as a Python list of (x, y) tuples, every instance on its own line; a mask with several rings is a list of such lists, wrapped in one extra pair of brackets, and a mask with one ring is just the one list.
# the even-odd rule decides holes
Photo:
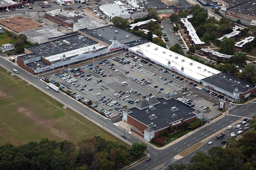
[[(151, 42), (135, 46), (130, 49), (133, 51), (141, 50), (145, 57), (156, 61), (159, 65), (163, 65), (166, 68), (170, 68), (168, 66), (168, 61), (170, 61), (171, 67), (176, 68), (179, 71), (181, 71), (181, 68), (183, 67), (184, 71), (182, 74), (194, 77), (195, 80), (201, 80), (203, 78), (220, 73), (220, 71), (216, 69), (191, 60), (190, 58), (187, 58)], [(177, 57), (177, 59), (175, 57)], [(192, 65), (190, 65), (190, 63), (192, 63)]]

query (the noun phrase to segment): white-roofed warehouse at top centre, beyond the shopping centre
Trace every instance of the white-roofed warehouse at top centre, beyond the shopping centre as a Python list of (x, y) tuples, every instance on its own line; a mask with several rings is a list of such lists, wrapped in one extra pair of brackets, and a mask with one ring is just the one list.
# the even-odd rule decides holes
[(131, 14), (117, 4), (101, 5), (100, 10), (111, 19), (114, 17), (122, 17), (123, 19), (131, 18)]

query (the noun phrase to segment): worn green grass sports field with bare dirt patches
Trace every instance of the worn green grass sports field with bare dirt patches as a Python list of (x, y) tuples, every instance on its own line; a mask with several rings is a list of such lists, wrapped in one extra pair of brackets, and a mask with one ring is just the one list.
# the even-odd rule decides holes
[(99, 135), (107, 140), (120, 141), (72, 110), (62, 109), (61, 103), (9, 74), (0, 68), (0, 145), (20, 145), (43, 138), (81, 141)]

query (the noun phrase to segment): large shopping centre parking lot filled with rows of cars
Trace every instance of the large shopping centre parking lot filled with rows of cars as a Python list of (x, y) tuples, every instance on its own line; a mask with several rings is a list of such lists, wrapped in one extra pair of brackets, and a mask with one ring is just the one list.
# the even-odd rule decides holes
[[(121, 120), (120, 115), (126, 106), (133, 108), (146, 95), (155, 98), (165, 94), (174, 98), (179, 96), (183, 102), (191, 99), (186, 103), (201, 112), (207, 111), (205, 107), (217, 107), (213, 106), (213, 102), (190, 92), (197, 84), (165, 71), (156, 64), (137, 59), (125, 57), (125, 52), (117, 53), (104, 60), (97, 59), (66, 68), (65, 73), (49, 77), (63, 85), (62, 90), (71, 90), (73, 96), (80, 95), (77, 97), (82, 97), (82, 101), (91, 100), (92, 107), (105, 112), (106, 117), (114, 122)], [(126, 83), (122, 85), (122, 82)]]

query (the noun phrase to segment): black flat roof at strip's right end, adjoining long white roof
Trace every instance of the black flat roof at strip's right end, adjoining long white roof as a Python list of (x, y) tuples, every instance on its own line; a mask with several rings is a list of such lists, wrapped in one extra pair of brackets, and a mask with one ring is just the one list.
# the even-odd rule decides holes
[[(245, 80), (242, 80), (224, 72), (204, 78), (203, 81), (209, 84), (213, 84), (216, 87), (228, 91), (229, 93), (233, 93), (236, 87), (238, 88), (238, 91), (242, 93), (245, 93), (255, 87), (255, 85), (252, 83), (249, 83)], [(241, 84), (237, 84), (237, 82), (240, 82)], [(246, 85), (249, 85), (249, 88), (245, 87)]]

